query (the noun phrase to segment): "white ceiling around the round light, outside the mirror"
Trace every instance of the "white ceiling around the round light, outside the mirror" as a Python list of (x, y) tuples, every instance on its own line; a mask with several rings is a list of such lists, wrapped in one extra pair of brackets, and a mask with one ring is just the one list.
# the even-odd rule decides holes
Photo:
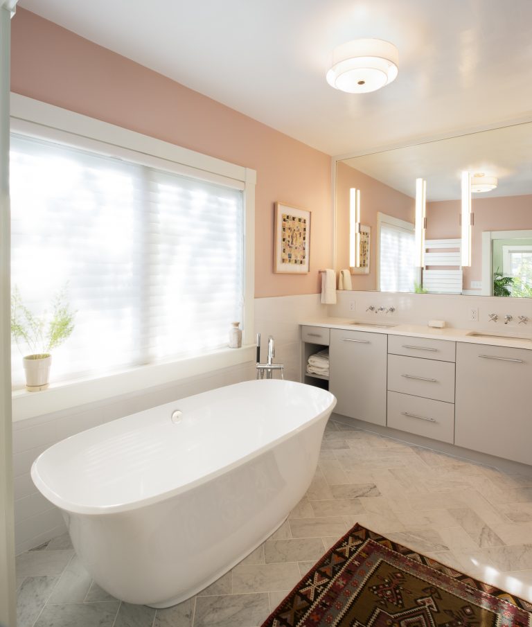
[[(328, 154), (532, 118), (532, 1), (20, 0), (19, 6)], [(399, 76), (325, 80), (332, 48), (386, 39)]]

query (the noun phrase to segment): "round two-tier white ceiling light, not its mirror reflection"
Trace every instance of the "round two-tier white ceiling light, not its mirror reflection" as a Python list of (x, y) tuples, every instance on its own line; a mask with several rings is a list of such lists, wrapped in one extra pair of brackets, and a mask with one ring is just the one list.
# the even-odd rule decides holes
[(388, 85), (397, 76), (399, 53), (382, 39), (353, 39), (332, 52), (327, 82), (349, 94), (364, 94)]

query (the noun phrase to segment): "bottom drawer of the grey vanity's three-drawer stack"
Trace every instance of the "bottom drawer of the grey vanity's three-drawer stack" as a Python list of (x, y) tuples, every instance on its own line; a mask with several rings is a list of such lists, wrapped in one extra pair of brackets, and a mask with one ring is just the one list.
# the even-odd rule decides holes
[(387, 425), (393, 429), (452, 444), (454, 405), (441, 400), (388, 392)]

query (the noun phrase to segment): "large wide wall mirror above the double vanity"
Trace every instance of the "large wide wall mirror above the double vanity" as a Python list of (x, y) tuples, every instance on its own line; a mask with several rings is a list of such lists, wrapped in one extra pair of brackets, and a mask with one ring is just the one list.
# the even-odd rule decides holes
[[(461, 265), (463, 172), (470, 266)], [(424, 242), (416, 241), (416, 179), (425, 181)], [(353, 290), (532, 297), (532, 122), (337, 161), (336, 217), (335, 267), (350, 270)]]

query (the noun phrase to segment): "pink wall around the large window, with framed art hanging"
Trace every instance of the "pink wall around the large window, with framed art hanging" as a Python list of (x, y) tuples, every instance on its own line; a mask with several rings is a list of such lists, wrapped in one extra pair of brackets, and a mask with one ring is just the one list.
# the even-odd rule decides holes
[[(24, 9), (11, 55), (17, 94), (257, 170), (256, 297), (319, 292), (332, 263), (327, 154)], [(276, 200), (312, 211), (310, 274), (272, 270)]]

